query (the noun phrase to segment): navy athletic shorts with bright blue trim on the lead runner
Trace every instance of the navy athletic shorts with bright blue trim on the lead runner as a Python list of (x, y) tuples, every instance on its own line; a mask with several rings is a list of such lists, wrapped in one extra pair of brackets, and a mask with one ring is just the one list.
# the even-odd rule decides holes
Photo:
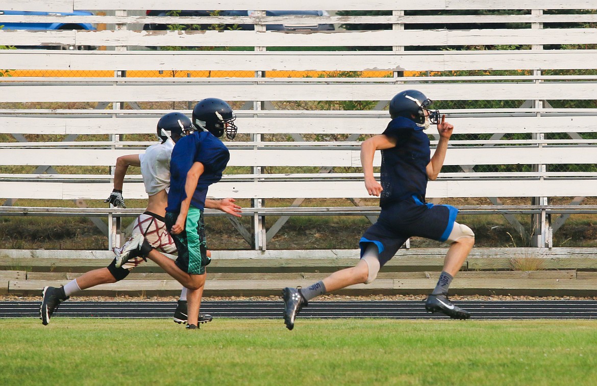
[(379, 251), (383, 267), (411, 237), (418, 236), (446, 241), (458, 209), (450, 205), (423, 203), (417, 196), (381, 208), (377, 222), (365, 231), (359, 241), (361, 257), (367, 245), (373, 242)]

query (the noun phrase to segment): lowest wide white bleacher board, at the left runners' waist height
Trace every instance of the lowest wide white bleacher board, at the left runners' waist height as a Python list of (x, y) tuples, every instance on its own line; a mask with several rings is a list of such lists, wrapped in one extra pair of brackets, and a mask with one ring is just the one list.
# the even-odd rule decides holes
[[(595, 179), (555, 180), (436, 180), (427, 187), (427, 198), (450, 197), (590, 197)], [(3, 182), (0, 197), (51, 200), (103, 200), (112, 191), (106, 183)], [(127, 198), (146, 198), (142, 183), (126, 183)], [(370, 198), (360, 181), (219, 182), (210, 187), (213, 197), (233, 198)]]

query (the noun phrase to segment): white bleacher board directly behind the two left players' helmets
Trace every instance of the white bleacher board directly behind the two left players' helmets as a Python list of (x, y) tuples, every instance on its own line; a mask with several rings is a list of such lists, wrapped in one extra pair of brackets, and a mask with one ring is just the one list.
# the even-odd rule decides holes
[[(597, 57), (595, 58), (597, 61)], [(247, 114), (247, 111), (236, 111)], [(340, 117), (305, 116), (304, 111), (296, 111), (296, 117), (248, 117), (239, 116), (236, 124), (239, 132), (250, 134), (380, 134), (383, 132), (389, 116), (387, 111), (380, 111), (380, 117), (355, 117), (347, 111), (338, 111)], [(345, 115), (345, 117), (341, 117)], [(0, 116), (0, 133), (22, 134), (153, 134), (159, 116), (143, 118), (136, 116), (118, 116), (115, 118), (92, 117), (35, 117), (35, 116)], [(494, 134), (494, 133), (561, 133), (570, 131), (587, 133), (595, 130), (593, 116), (540, 116), (540, 117), (500, 117), (496, 125), (495, 117), (451, 117), (447, 120), (455, 127), (457, 134)], [(458, 139), (450, 140), (450, 145), (458, 145)], [(571, 139), (571, 143), (574, 140)], [(226, 141), (234, 146), (235, 142)], [(263, 145), (263, 144), (260, 144)], [(2, 144), (8, 147), (9, 144)], [(487, 150), (487, 148), (485, 148)], [(4, 150), (3, 150), (4, 151)], [(448, 154), (450, 151), (448, 152)], [(114, 162), (114, 160), (112, 160)]]

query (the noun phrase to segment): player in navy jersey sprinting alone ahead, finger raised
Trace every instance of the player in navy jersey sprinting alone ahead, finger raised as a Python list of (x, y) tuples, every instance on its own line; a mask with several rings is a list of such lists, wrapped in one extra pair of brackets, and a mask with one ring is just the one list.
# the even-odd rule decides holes
[[(374, 281), (377, 272), (394, 256), (408, 238), (419, 236), (450, 244), (444, 268), (425, 309), (454, 319), (468, 319), (470, 313), (448, 299), (454, 275), (475, 244), (475, 234), (456, 222), (457, 208), (426, 203), (427, 180), (438, 178), (444, 164), (454, 126), (430, 110), (432, 101), (420, 91), (407, 90), (390, 101), (390, 123), (381, 135), (361, 145), (361, 164), (365, 188), (380, 197), (381, 213), (359, 241), (361, 260), (355, 267), (339, 270), (307, 288), (284, 288), (284, 323), (294, 328), (294, 319), (312, 298), (349, 285)], [(431, 156), (429, 138), (424, 129), (436, 124), (438, 146)], [(381, 150), (381, 183), (373, 176), (373, 157)]]

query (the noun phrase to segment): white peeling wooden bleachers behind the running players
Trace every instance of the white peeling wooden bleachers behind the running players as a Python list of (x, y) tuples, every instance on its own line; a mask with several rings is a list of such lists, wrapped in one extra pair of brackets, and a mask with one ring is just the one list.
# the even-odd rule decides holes
[[(14, 4), (13, 4), (14, 3)], [(17, 3), (8, 2), (15, 9)], [(44, 2), (30, 0), (32, 4)], [(551, 172), (551, 165), (597, 164), (597, 139), (581, 134), (595, 132), (597, 106), (593, 108), (552, 108), (549, 101), (594, 101), (597, 76), (586, 71), (548, 76), (546, 70), (593, 70), (595, 49), (541, 49), (543, 45), (594, 45), (594, 28), (542, 28), (548, 23), (595, 21), (593, 14), (551, 14), (544, 10), (590, 8), (589, 1), (536, 2), (504, 0), (430, 1), (414, 4), (405, 1), (318, 1), (301, 2), (294, 9), (392, 10), (391, 16), (301, 18), (326, 23), (390, 23), (392, 30), (335, 32), (274, 32), (260, 30), (267, 23), (296, 21), (296, 17), (245, 18), (212, 17), (214, 23), (255, 23), (254, 31), (143, 32), (127, 24), (147, 22), (199, 23), (199, 18), (158, 18), (128, 15), (127, 10), (163, 8), (156, 1), (78, 0), (77, 9), (116, 10), (113, 15), (81, 17), (90, 23), (116, 24), (115, 30), (102, 31), (5, 31), (0, 30), (0, 45), (94, 45), (106, 51), (60, 51), (47, 49), (0, 50), (0, 67), (21, 74), (30, 70), (112, 71), (115, 77), (92, 76), (14, 76), (0, 77), (0, 134), (20, 135), (19, 142), (0, 144), (0, 166), (113, 166), (116, 157), (142, 151), (147, 144), (122, 141), (122, 134), (153, 133), (156, 119), (166, 110), (129, 110), (125, 102), (198, 101), (216, 96), (231, 102), (247, 102), (251, 110), (237, 110), (239, 132), (250, 140), (229, 142), (230, 166), (250, 167), (251, 173), (226, 175), (210, 189), (215, 197), (248, 198), (253, 206), (245, 212), (254, 217), (253, 244), (266, 249), (263, 217), (266, 215), (375, 214), (376, 208), (262, 208), (260, 200), (272, 198), (367, 198), (358, 173), (360, 167), (358, 136), (380, 133), (387, 124), (387, 113), (380, 111), (384, 101), (404, 89), (417, 88), (438, 101), (520, 101), (520, 108), (460, 108), (442, 110), (456, 126), (458, 135), (491, 135), (491, 139), (451, 141), (445, 165), (461, 166), (458, 172), (444, 172), (429, 183), (428, 198), (452, 197), (531, 197), (534, 205), (519, 207), (463, 206), (465, 213), (533, 213), (541, 216), (537, 244), (551, 246), (550, 214), (592, 213), (595, 208), (577, 205), (575, 197), (594, 196), (597, 172)], [(70, 2), (72, 5), (73, 2)], [(56, 2), (56, 11), (69, 2)], [(275, 9), (278, 3), (257, 0), (203, 2), (208, 9)], [(101, 8), (98, 8), (101, 7)], [(190, 0), (174, 1), (168, 7), (195, 8)], [(279, 7), (279, 5), (278, 5)], [(528, 9), (526, 15), (438, 15), (439, 19), (405, 15), (408, 10)], [(594, 5), (593, 5), (594, 7)], [(10, 8), (8, 8), (10, 9)], [(41, 8), (40, 8), (41, 9)], [(27, 16), (28, 22), (55, 20), (59, 16)], [(0, 15), (3, 20), (11, 20)], [(441, 20), (441, 21), (438, 21)], [(205, 22), (205, 19), (202, 19)], [(211, 22), (211, 21), (210, 21)], [(530, 23), (528, 28), (418, 30), (404, 29), (418, 23)], [(435, 51), (434, 46), (529, 45), (532, 49), (494, 49), (480, 51)], [(250, 47), (254, 51), (149, 51), (155, 46), (213, 46), (218, 49)], [(300, 51), (267, 51), (273, 47), (301, 47)], [(345, 48), (341, 51), (309, 51), (322, 46)], [(371, 49), (390, 46), (392, 51), (352, 51), (347, 47)], [(408, 50), (405, 50), (408, 49)], [(230, 71), (227, 77), (127, 77), (127, 71)], [(520, 74), (487, 76), (433, 76), (435, 71), (525, 70)], [(245, 71), (233, 73), (232, 71)], [(248, 74), (247, 74), (247, 71)], [(377, 77), (270, 77), (273, 71), (378, 71)], [(418, 71), (417, 76), (403, 76)], [(429, 73), (427, 73), (429, 71)], [(239, 75), (240, 74), (240, 75)], [(334, 77), (335, 76), (335, 77)], [(386, 76), (386, 77), (384, 77)], [(288, 101), (376, 101), (378, 110), (264, 110), (270, 102)], [(32, 104), (32, 102), (35, 102)], [(111, 109), (57, 109), (72, 102), (91, 102)], [(526, 102), (526, 104), (525, 104)], [(42, 107), (39, 107), (42, 106)], [(186, 113), (190, 111), (186, 110)], [(433, 129), (430, 134), (435, 132)], [(528, 134), (532, 139), (504, 139), (504, 135)], [(553, 133), (568, 133), (567, 139), (546, 139)], [(106, 134), (109, 140), (93, 143), (23, 142), (23, 135), (60, 134), (80, 136)], [(265, 136), (347, 134), (344, 142), (266, 141)], [(506, 137), (510, 138), (510, 137)], [(435, 142), (433, 142), (435, 143)], [(377, 164), (379, 160), (376, 161)], [(528, 164), (530, 171), (480, 173), (473, 166)], [(264, 173), (264, 167), (293, 167), (289, 173)], [(327, 168), (326, 173), (301, 172), (300, 167)], [(343, 168), (335, 172), (330, 168)], [(350, 172), (344, 168), (356, 168)], [(6, 169), (4, 169), (6, 170)], [(2, 173), (0, 197), (57, 200), (103, 199), (110, 191), (110, 175), (59, 175), (57, 173)], [(144, 198), (139, 176), (125, 182), (128, 198)], [(571, 206), (550, 206), (548, 198), (570, 197)], [(18, 205), (18, 202), (16, 203)], [(468, 211), (468, 212), (467, 212)], [(76, 212), (93, 216), (131, 216), (134, 210), (93, 210), (73, 208), (40, 210), (1, 208), (2, 214), (64, 214)]]

